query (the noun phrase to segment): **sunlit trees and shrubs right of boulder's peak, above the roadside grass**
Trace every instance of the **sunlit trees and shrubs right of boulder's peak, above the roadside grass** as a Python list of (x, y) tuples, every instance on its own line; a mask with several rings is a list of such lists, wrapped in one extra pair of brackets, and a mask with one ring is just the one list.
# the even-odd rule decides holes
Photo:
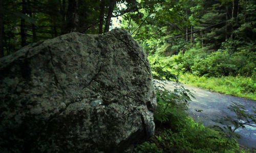
[(139, 4), (142, 9), (125, 14), (122, 27), (131, 31), (149, 56), (172, 58), (160, 64), (197, 76), (255, 75), (255, 2), (183, 0)]

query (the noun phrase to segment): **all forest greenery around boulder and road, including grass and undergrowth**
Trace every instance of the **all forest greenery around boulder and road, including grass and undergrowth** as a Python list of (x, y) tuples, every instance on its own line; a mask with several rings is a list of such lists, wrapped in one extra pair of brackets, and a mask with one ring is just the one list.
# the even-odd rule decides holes
[[(253, 0), (0, 0), (0, 57), (71, 32), (122, 28), (144, 49), (154, 79), (256, 100), (255, 9)], [(156, 135), (135, 152), (253, 152), (234, 139), (246, 123), (208, 128), (185, 112), (189, 91), (156, 91)], [(230, 110), (255, 123), (255, 110)]]

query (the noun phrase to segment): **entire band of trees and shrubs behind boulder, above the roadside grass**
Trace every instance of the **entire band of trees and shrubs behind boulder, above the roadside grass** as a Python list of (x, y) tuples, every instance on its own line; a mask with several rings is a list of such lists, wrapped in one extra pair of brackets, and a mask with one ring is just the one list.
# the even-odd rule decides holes
[[(196, 75), (251, 76), (255, 68), (255, 1), (1, 1), (0, 55), (69, 32), (103, 33), (121, 17), (147, 54), (174, 56)], [(239, 61), (239, 62), (238, 62)], [(205, 68), (205, 65), (208, 65)]]

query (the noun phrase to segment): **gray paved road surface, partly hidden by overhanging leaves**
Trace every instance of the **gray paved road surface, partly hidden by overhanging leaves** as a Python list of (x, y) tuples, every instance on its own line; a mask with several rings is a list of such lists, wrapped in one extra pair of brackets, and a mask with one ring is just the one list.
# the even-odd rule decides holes
[[(165, 88), (167, 90), (174, 89), (174, 82), (167, 82)], [(227, 107), (236, 102), (245, 106), (247, 113), (256, 115), (252, 111), (252, 107), (256, 107), (256, 100), (234, 97), (215, 92), (210, 92), (193, 86), (184, 85), (185, 89), (190, 90), (195, 98), (191, 98), (188, 105), (188, 114), (197, 122), (203, 123), (205, 126), (225, 126), (220, 124), (216, 119), (223, 116), (229, 116), (236, 119), (236, 114), (231, 112)], [(238, 128), (235, 132), (241, 137), (238, 142), (245, 147), (256, 148), (256, 124), (253, 126), (246, 125), (245, 128)], [(230, 125), (233, 129), (233, 125)]]

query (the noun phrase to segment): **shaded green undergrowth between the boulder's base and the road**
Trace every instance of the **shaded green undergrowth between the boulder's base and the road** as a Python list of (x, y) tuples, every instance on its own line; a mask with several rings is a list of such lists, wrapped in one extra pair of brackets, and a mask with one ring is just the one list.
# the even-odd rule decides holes
[[(178, 86), (176, 89), (179, 89)], [(183, 88), (179, 91), (187, 92)], [(230, 141), (221, 132), (188, 117), (186, 100), (173, 101), (174, 95), (166, 93), (164, 88), (157, 88), (156, 135), (138, 145), (135, 152), (243, 152), (236, 140)]]

